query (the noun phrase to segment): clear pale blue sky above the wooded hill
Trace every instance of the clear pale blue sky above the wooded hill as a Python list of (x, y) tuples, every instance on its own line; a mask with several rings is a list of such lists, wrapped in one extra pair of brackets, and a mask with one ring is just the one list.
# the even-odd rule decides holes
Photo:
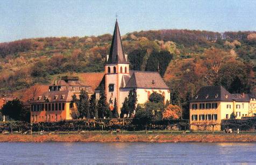
[(0, 0), (0, 42), (150, 29), (256, 31), (256, 1)]

